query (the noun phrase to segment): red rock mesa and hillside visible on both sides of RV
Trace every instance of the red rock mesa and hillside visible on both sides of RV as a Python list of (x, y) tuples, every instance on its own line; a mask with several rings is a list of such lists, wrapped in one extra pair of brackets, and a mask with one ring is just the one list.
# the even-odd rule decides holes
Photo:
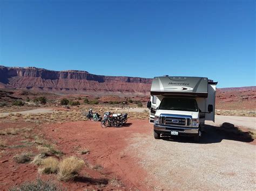
[[(126, 97), (140, 97), (146, 101), (150, 95), (152, 79), (127, 76), (103, 76), (86, 71), (53, 71), (35, 67), (0, 66), (0, 88), (14, 91), (1, 93), (3, 97), (23, 97), (22, 91), (52, 93), (46, 95), (100, 96), (103, 102), (113, 99), (122, 102)], [(12, 95), (14, 94), (14, 95)], [(117, 96), (110, 98), (109, 96)], [(118, 98), (118, 96), (121, 96)], [(105, 98), (104, 98), (105, 97)], [(122, 98), (123, 97), (123, 98)], [(2, 101), (4, 98), (2, 99)], [(255, 110), (256, 87), (217, 88), (216, 109)]]

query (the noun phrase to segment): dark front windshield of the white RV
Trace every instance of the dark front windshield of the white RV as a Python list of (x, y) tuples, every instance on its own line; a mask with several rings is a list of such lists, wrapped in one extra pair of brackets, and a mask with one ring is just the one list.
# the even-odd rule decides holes
[(189, 98), (163, 98), (159, 109), (198, 111), (197, 101)]

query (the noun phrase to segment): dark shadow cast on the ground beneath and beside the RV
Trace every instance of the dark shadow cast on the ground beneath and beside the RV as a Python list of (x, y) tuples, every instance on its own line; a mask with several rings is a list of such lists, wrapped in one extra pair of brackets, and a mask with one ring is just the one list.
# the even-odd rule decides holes
[[(161, 137), (163, 140), (175, 141), (180, 143), (195, 143), (193, 137)], [(223, 139), (235, 140), (238, 142), (253, 142), (253, 133), (241, 131), (231, 123), (224, 123), (221, 126), (205, 125), (205, 131), (200, 138), (200, 144), (220, 143)]]

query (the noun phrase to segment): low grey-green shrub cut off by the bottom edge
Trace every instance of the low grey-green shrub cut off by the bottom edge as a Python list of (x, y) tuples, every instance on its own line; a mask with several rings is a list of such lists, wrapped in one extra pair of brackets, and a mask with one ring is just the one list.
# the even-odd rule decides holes
[(63, 190), (61, 187), (56, 186), (50, 180), (37, 179), (32, 182), (25, 182), (20, 186), (15, 186), (9, 189), (10, 191), (35, 191), (35, 190), (47, 190), (47, 191), (58, 191)]

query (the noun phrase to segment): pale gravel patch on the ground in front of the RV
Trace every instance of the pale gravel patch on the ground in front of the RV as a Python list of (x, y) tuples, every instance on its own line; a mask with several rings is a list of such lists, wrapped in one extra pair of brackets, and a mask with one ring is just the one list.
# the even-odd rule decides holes
[(136, 134), (127, 150), (161, 185), (158, 189), (255, 190), (255, 145), (223, 139), (196, 144)]

